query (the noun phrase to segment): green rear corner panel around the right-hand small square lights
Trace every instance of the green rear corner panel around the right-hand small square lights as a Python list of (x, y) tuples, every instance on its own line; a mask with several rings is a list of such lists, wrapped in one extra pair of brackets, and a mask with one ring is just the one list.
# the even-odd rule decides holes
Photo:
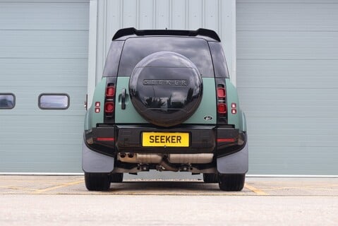
[[(246, 116), (239, 106), (239, 97), (236, 87), (231, 83), (229, 78), (226, 78), (227, 86), (227, 107), (228, 107), (228, 124), (235, 125), (236, 129), (246, 131)], [(231, 103), (236, 103), (237, 113), (231, 113)]]

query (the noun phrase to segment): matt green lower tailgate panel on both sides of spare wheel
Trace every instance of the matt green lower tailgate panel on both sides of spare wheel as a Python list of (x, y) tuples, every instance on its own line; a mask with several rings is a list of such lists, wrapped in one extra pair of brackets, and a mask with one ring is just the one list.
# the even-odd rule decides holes
[[(136, 112), (129, 97), (129, 78), (119, 77), (117, 78), (117, 90), (116, 90), (116, 107), (115, 107), (115, 122), (116, 124), (129, 124), (129, 123), (147, 123), (143, 117)], [(126, 109), (121, 109), (121, 93), (123, 88), (126, 89)], [(216, 124), (216, 101), (215, 101), (215, 79), (203, 78), (203, 97), (200, 102), (200, 106), (196, 112), (187, 119), (183, 124)], [(205, 120), (205, 117), (209, 117), (209, 120)], [(210, 118), (211, 117), (211, 118)]]

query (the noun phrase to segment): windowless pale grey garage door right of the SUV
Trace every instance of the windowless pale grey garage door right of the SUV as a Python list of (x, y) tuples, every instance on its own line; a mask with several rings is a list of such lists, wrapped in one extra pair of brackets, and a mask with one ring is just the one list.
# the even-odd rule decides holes
[(251, 174), (338, 174), (338, 2), (237, 1)]

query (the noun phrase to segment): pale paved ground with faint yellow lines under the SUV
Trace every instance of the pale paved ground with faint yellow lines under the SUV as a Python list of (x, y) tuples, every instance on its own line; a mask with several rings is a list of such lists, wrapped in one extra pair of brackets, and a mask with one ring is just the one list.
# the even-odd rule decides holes
[(0, 225), (338, 225), (338, 178), (138, 180), (85, 189), (80, 176), (0, 176)]

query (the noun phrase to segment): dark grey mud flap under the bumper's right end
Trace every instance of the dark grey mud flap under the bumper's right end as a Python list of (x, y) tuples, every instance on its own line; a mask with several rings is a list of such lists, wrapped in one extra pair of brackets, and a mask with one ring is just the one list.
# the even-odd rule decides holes
[(221, 174), (246, 174), (248, 172), (248, 142), (239, 152), (217, 158), (217, 171)]

